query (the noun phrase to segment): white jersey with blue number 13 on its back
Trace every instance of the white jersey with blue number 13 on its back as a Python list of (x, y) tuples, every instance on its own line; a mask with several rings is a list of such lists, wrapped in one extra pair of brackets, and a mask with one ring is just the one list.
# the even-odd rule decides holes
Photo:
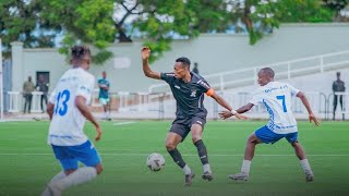
[(75, 106), (75, 97), (83, 96), (91, 103), (95, 77), (81, 68), (68, 70), (58, 81), (49, 101), (55, 105), (48, 144), (75, 146), (88, 138), (84, 134), (85, 117)]

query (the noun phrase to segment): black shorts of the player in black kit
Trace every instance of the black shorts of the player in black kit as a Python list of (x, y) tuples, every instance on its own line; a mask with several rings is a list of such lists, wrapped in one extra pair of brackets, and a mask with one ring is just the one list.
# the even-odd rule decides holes
[(206, 124), (206, 118), (202, 118), (202, 117), (176, 118), (174, 121), (172, 122), (170, 132), (177, 133), (182, 137), (182, 140), (184, 140), (184, 138), (191, 131), (190, 128), (192, 127), (193, 124), (201, 125), (204, 131), (204, 126)]

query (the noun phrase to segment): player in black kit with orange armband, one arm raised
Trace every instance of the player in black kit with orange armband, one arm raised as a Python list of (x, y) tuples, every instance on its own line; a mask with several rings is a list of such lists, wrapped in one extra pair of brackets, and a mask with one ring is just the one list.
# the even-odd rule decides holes
[(231, 111), (238, 119), (246, 117), (232, 110), (232, 108), (219, 95), (209, 87), (207, 82), (200, 75), (190, 71), (190, 60), (179, 58), (174, 63), (172, 73), (157, 73), (149, 68), (148, 59), (151, 49), (143, 47), (141, 50), (144, 75), (155, 79), (163, 79), (169, 84), (173, 97), (177, 101), (176, 119), (172, 122), (166, 139), (166, 149), (173, 161), (183, 170), (185, 174), (185, 186), (192, 184), (195, 174), (184, 162), (177, 145), (181, 143), (189, 132), (192, 133), (193, 144), (197, 148), (198, 157), (204, 168), (202, 177), (207, 181), (214, 179), (208, 163), (207, 150), (202, 140), (204, 125), (206, 123), (207, 110), (204, 108), (204, 94), (214, 98), (220, 106)]

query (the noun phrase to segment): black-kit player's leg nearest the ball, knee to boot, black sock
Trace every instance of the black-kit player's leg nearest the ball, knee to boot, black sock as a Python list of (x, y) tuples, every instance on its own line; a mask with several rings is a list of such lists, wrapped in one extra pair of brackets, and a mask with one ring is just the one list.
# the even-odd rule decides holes
[(192, 180), (195, 174), (189, 168), (189, 166), (184, 162), (181, 154), (177, 149), (177, 145), (182, 140), (182, 137), (177, 133), (169, 132), (166, 138), (166, 149), (169, 155), (172, 157), (173, 161), (183, 170), (185, 174), (184, 186), (191, 186)]

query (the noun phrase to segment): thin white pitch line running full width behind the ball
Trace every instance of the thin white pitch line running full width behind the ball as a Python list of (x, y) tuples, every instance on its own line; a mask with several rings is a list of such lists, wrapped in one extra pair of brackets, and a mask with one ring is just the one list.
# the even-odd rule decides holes
[[(99, 154), (101, 156), (125, 156), (125, 157), (147, 157), (149, 154)], [(0, 156), (53, 156), (53, 154), (36, 154), (36, 152), (0, 152)], [(197, 157), (195, 154), (183, 154), (182, 156), (185, 157)], [(294, 157), (296, 155), (255, 155), (256, 157)], [(349, 157), (349, 155), (346, 154), (324, 154), (324, 155), (306, 155), (308, 157)], [(243, 155), (238, 154), (212, 154), (209, 157), (243, 157)]]

